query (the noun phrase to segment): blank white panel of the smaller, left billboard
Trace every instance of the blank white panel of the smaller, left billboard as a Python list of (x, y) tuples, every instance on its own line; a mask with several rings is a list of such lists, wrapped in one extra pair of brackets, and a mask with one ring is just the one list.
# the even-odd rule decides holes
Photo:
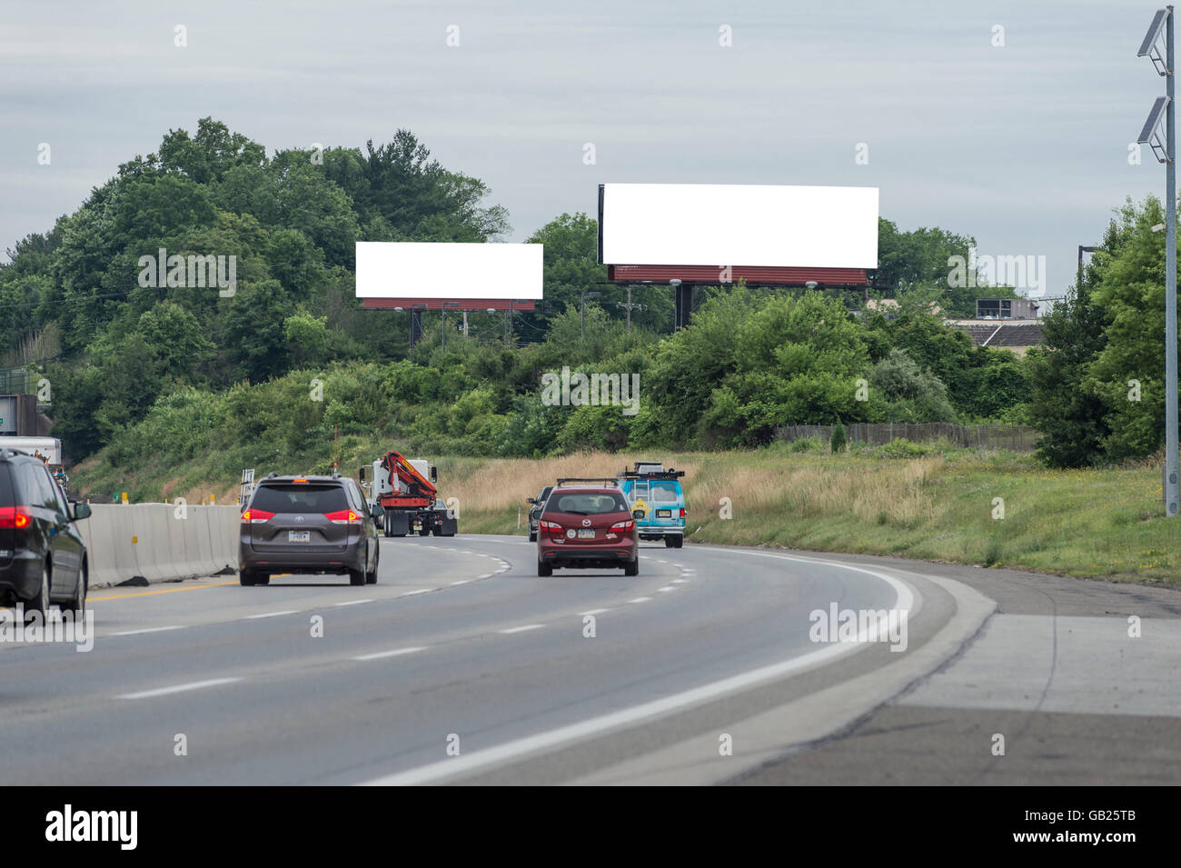
[(358, 241), (357, 296), (540, 299), (542, 248)]

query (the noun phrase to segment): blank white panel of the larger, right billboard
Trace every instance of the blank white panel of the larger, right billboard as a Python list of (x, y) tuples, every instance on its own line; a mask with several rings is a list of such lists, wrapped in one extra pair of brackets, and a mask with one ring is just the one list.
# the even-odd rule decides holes
[(601, 261), (877, 267), (876, 187), (603, 184)]

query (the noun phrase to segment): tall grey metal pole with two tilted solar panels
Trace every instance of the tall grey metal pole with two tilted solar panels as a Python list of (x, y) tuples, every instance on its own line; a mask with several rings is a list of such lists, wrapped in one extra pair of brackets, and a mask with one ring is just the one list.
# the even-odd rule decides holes
[[(1164, 51), (1161, 52), (1161, 37)], [(1164, 515), (1177, 517), (1181, 507), (1181, 466), (1177, 463), (1177, 189), (1176, 100), (1174, 93), (1173, 7), (1153, 15), (1136, 57), (1147, 57), (1164, 77), (1164, 96), (1157, 97), (1136, 141), (1153, 149), (1164, 163)], [(1163, 133), (1161, 125), (1163, 120)]]

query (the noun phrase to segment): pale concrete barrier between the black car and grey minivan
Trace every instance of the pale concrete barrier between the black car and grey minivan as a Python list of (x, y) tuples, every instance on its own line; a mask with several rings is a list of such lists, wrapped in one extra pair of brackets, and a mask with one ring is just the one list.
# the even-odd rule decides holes
[(149, 582), (213, 575), (237, 567), (237, 507), (96, 503), (78, 522), (90, 560), (90, 586), (133, 576)]

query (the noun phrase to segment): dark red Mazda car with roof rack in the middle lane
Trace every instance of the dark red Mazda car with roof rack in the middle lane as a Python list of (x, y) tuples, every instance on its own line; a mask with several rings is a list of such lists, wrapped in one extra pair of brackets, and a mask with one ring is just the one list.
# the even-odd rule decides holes
[[(600, 484), (587, 484), (594, 482)], [(559, 479), (537, 522), (537, 575), (553, 575), (554, 567), (622, 567), (624, 575), (639, 575), (637, 534), (614, 479)]]

